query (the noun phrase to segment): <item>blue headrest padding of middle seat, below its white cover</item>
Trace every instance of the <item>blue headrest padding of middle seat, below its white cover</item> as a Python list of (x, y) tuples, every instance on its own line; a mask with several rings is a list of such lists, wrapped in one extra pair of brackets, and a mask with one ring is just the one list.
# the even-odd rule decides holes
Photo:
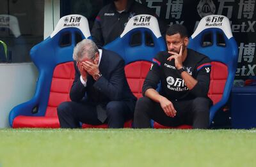
[[(142, 43), (141, 45), (132, 47), (129, 42), (132, 34), (137, 33), (138, 31), (141, 33)], [(150, 47), (145, 44), (145, 32), (151, 34), (154, 41), (154, 47)], [(152, 62), (153, 57), (156, 56), (159, 51), (166, 50), (166, 44), (162, 36), (156, 38), (150, 29), (139, 27), (132, 29), (122, 38), (119, 37), (108, 45), (105, 45), (104, 48), (118, 53), (125, 60), (125, 64), (129, 64), (130, 62), (134, 61)]]

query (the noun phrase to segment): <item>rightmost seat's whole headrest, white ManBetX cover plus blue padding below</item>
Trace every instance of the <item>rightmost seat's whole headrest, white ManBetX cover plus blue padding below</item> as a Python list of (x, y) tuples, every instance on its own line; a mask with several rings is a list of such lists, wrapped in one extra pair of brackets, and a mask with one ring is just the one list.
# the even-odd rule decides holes
[(228, 18), (222, 15), (203, 17), (189, 38), (188, 48), (228, 66), (233, 66), (233, 62), (237, 61), (236, 40)]

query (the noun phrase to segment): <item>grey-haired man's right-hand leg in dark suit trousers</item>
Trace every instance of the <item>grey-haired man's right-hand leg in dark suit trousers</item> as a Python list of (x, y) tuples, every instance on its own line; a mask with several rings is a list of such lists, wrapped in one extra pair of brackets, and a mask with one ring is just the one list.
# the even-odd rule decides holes
[(134, 101), (111, 101), (106, 106), (109, 128), (122, 128), (126, 120), (132, 119)]

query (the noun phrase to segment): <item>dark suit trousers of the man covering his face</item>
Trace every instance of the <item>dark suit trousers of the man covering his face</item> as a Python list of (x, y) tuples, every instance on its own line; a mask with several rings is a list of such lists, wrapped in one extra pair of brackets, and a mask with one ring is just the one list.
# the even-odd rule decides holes
[(107, 119), (100, 122), (97, 118), (96, 106), (88, 102), (77, 103), (67, 101), (61, 103), (58, 108), (60, 127), (77, 128), (79, 122), (92, 125), (108, 123), (109, 128), (122, 128), (126, 120), (132, 119), (135, 101), (111, 101), (106, 105)]

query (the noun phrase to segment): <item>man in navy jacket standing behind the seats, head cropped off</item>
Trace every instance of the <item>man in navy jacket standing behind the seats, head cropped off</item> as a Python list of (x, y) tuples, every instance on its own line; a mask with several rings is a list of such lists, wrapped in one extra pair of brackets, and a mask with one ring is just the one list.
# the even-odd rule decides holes
[[(123, 33), (128, 20), (134, 15), (148, 14), (155, 17), (152, 9), (137, 3), (134, 0), (114, 0), (100, 11), (92, 28), (92, 38), (97, 46), (104, 46), (115, 40)], [(165, 24), (159, 22), (161, 34), (165, 33)]]

